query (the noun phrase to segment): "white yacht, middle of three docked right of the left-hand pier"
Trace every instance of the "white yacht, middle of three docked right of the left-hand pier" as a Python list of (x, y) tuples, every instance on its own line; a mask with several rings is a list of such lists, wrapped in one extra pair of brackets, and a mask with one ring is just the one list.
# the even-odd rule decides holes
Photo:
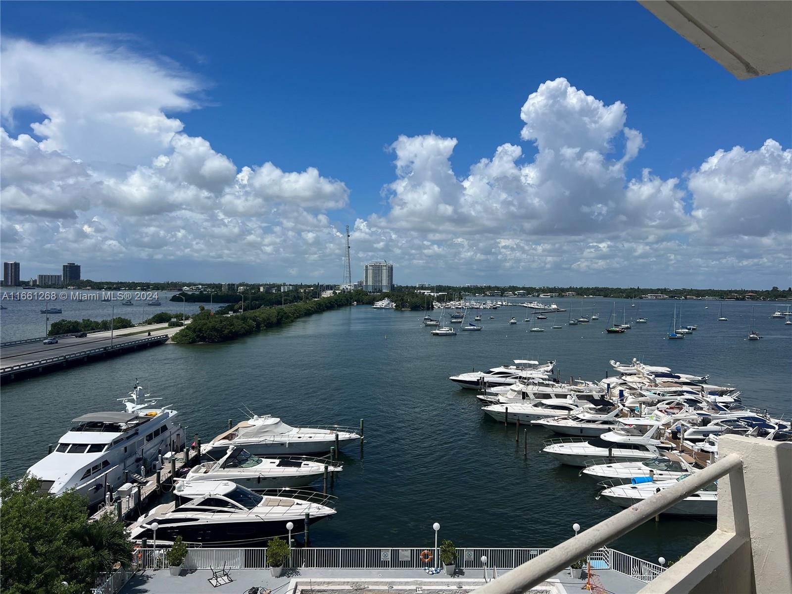
[(304, 487), (325, 474), (341, 472), (341, 463), (328, 459), (291, 456), (259, 458), (245, 449), (228, 448), (228, 453), (217, 462), (204, 462), (193, 466), (185, 477), (186, 482), (232, 481), (253, 491)]

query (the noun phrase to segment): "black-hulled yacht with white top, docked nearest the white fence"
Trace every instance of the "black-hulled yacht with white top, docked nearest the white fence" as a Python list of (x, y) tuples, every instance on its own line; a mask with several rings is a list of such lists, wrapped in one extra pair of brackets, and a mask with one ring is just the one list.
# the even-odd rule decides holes
[(181, 482), (175, 501), (158, 505), (129, 527), (130, 539), (151, 542), (158, 524), (157, 543), (181, 536), (186, 543), (204, 546), (242, 546), (285, 535), (286, 524), (303, 525), (332, 516), (333, 497), (295, 491), (253, 493), (230, 481)]

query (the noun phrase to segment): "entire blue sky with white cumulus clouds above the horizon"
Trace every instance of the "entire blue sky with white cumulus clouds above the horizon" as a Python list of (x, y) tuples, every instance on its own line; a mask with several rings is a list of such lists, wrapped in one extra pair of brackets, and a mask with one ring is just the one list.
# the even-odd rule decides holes
[(792, 284), (792, 74), (638, 3), (3, 2), (23, 280)]

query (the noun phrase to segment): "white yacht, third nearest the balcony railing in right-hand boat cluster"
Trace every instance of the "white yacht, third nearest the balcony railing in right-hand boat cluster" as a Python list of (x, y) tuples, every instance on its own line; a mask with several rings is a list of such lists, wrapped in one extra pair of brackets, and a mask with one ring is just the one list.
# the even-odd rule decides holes
[(674, 446), (654, 436), (660, 423), (638, 417), (619, 419), (619, 427), (588, 441), (570, 437), (546, 440), (543, 451), (570, 466), (585, 466), (588, 460), (605, 458), (613, 462), (633, 462), (657, 458)]

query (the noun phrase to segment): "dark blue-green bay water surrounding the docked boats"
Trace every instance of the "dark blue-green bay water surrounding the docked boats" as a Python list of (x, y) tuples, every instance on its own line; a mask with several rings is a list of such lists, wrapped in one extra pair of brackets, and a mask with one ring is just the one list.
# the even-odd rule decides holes
[[(581, 299), (556, 303), (579, 314)], [(583, 303), (590, 312), (592, 302)], [(188, 435), (204, 440), (227, 419), (241, 420), (242, 406), (293, 425), (357, 426), (364, 418), (364, 449), (344, 452), (333, 492), (338, 513), (312, 529), (315, 546), (430, 545), (433, 522), (458, 546), (554, 546), (573, 534), (573, 523), (590, 527), (619, 508), (596, 501), (596, 483), (578, 469), (540, 453), (550, 432), (530, 428), (525, 456), (514, 427), (486, 418), (474, 392), (457, 389), (449, 375), (529, 358), (558, 360), (562, 377), (596, 380), (610, 371), (608, 360), (639, 357), (736, 384), (750, 406), (792, 408), (792, 326), (768, 318), (779, 304), (756, 306), (754, 326), (764, 340), (749, 342), (749, 303), (724, 303), (729, 322), (717, 322), (718, 303), (684, 303), (683, 322), (699, 329), (683, 341), (664, 340), (668, 301), (642, 301), (648, 324), (605, 333), (612, 303), (596, 302), (600, 321), (588, 325), (553, 330), (551, 314), (544, 333), (527, 332), (534, 324), (522, 322), (524, 308), (482, 310), (484, 329), (455, 337), (430, 337), (422, 312), (352, 307), (223, 345), (165, 345), (10, 383), (0, 404), (2, 473), (24, 472), (70, 419), (116, 409), (116, 398), (139, 379), (181, 412)], [(628, 319), (637, 317), (638, 307), (615, 303)], [(516, 326), (508, 324), (512, 315)], [(555, 315), (565, 322), (567, 314)], [(674, 559), (713, 529), (710, 521), (664, 518), (613, 546)]]

